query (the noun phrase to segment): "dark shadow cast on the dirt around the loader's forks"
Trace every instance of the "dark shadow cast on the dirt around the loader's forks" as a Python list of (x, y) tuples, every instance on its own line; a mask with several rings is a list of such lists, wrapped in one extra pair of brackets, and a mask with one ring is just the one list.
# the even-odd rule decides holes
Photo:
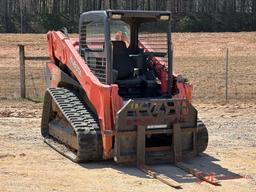
[[(219, 180), (229, 180), (229, 179), (238, 179), (242, 178), (241, 175), (236, 174), (227, 168), (224, 168), (217, 164), (219, 160), (209, 156), (207, 154), (201, 154), (193, 158), (192, 160), (184, 161), (190, 168), (197, 169), (198, 171), (202, 171), (207, 175), (214, 175)], [(86, 169), (102, 169), (102, 168), (111, 168), (118, 170), (123, 174), (128, 174), (132, 176), (137, 176), (140, 178), (149, 178), (144, 172), (140, 171), (134, 165), (124, 165), (117, 164), (113, 161), (102, 161), (97, 163), (86, 163), (80, 164), (83, 168)], [(161, 165), (150, 165), (155, 171), (159, 174), (166, 175), (173, 180), (179, 183), (201, 183), (202, 181), (198, 178), (192, 176), (191, 174), (183, 171), (182, 169), (172, 165), (172, 164), (161, 164)]]

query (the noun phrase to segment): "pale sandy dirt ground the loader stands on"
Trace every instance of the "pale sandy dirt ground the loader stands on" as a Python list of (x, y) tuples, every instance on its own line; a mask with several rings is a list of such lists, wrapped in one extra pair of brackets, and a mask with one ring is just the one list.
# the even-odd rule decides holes
[(133, 166), (75, 164), (40, 135), (41, 103), (0, 100), (0, 191), (256, 191), (255, 102), (194, 101), (209, 129), (204, 154), (188, 161), (221, 180), (213, 186), (172, 165), (153, 166), (182, 184), (173, 189)]

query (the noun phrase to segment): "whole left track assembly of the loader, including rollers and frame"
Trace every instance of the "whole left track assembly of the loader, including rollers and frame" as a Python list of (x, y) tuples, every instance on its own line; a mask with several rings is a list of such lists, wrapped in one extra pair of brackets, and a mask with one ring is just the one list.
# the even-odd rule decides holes
[(45, 142), (72, 161), (102, 158), (98, 120), (71, 91), (47, 90), (41, 127)]

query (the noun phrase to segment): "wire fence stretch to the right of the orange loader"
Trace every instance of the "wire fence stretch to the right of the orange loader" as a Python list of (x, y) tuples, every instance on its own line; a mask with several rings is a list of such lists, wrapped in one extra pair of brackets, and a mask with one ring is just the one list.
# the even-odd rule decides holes
[(256, 54), (233, 55), (234, 52), (234, 48), (229, 47), (219, 50), (214, 58), (174, 58), (174, 68), (193, 84), (194, 98), (255, 99)]

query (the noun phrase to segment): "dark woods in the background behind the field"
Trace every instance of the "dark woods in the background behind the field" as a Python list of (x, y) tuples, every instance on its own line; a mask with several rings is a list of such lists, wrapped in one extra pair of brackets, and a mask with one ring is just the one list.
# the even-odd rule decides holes
[(255, 31), (256, 0), (0, 0), (0, 32), (78, 32), (80, 13), (170, 10), (174, 31)]

